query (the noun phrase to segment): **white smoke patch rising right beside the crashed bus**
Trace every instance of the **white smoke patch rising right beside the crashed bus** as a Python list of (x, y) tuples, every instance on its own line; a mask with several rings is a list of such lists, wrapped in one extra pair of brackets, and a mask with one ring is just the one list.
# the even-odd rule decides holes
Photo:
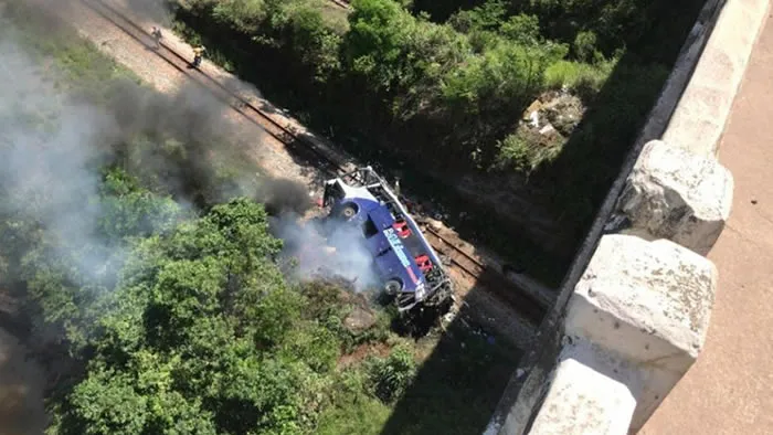
[(372, 255), (359, 226), (335, 220), (304, 222), (295, 214), (283, 214), (272, 221), (272, 232), (285, 242), (283, 254), (297, 259), (290, 278), (343, 278), (357, 291), (379, 286)]

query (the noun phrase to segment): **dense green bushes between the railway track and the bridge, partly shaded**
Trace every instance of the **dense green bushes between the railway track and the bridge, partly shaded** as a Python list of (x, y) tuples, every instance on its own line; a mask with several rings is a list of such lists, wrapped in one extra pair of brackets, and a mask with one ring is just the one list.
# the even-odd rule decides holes
[[(346, 13), (326, 0), (179, 3), (183, 34), (352, 151), (522, 177), (539, 191), (531, 200), (578, 235), (701, 4), (353, 0)], [(538, 97), (552, 105), (550, 134), (521, 121)]]

